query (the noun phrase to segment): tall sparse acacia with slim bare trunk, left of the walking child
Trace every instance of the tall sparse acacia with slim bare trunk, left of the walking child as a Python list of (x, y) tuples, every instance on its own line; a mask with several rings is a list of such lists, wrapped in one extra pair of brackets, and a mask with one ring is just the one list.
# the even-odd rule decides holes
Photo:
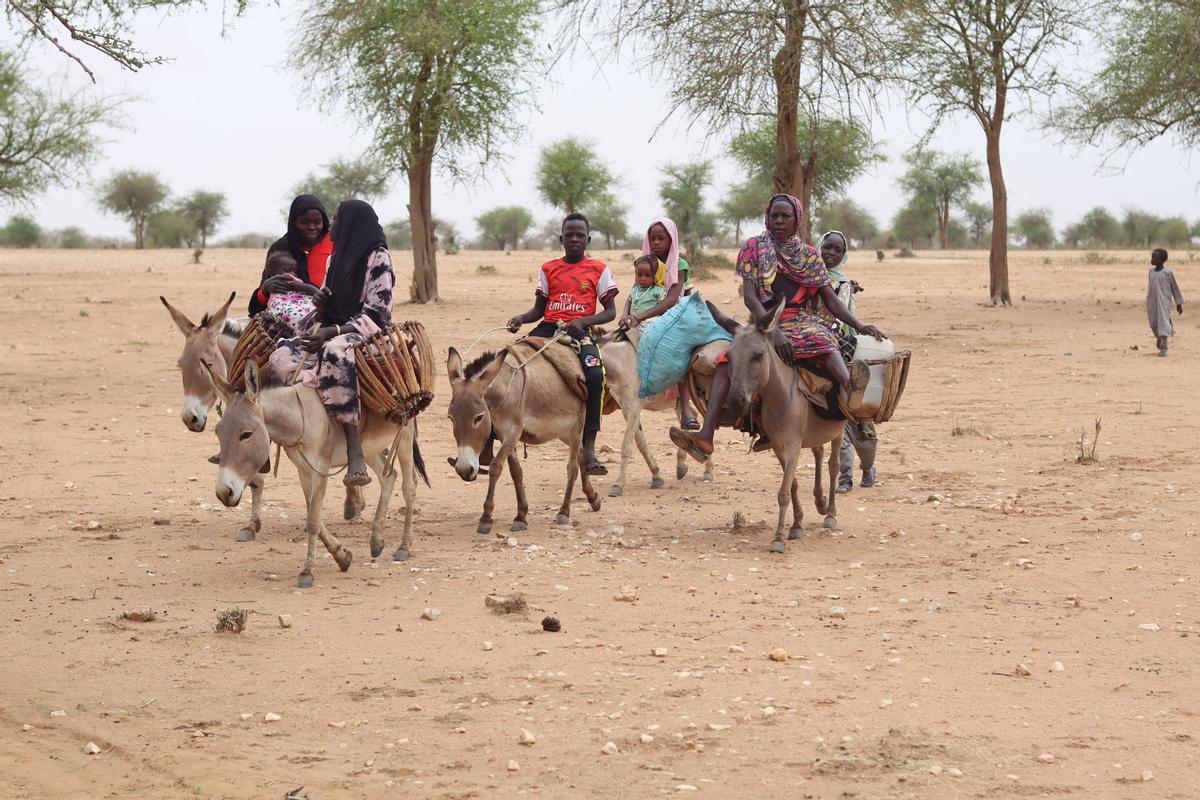
[(967, 114), (983, 130), (991, 184), (992, 305), (1008, 287), (1008, 188), (1001, 164), (1004, 122), (1019, 103), (1067, 85), (1052, 56), (1079, 35), (1092, 0), (892, 0), (912, 102), (931, 119)]

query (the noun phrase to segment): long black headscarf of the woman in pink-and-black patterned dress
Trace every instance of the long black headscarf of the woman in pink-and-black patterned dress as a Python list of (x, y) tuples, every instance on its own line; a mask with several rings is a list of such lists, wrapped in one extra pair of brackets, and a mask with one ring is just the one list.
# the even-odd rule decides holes
[(362, 311), (362, 285), (367, 259), (377, 249), (388, 249), (379, 215), (365, 200), (342, 200), (334, 228), (334, 257), (325, 272), (325, 287), (332, 295), (322, 321), (343, 325)]

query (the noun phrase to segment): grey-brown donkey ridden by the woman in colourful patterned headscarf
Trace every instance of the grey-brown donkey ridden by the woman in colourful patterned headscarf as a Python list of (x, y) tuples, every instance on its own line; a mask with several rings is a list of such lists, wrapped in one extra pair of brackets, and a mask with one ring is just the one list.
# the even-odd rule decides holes
[[(730, 345), (728, 405), (738, 414), (749, 414), (754, 402), (761, 401), (760, 423), (770, 440), (775, 458), (784, 468), (784, 480), (779, 485), (778, 494), (779, 523), (775, 527), (775, 540), (770, 543), (772, 553), (782, 553), (784, 521), (788, 499), (792, 504), (792, 527), (787, 537), (794, 540), (803, 535), (804, 510), (800, 507), (799, 487), (796, 482), (796, 467), (802, 449), (808, 447), (812, 451), (816, 464), (812, 497), (816, 499), (817, 512), (824, 515), (826, 528), (838, 527), (836, 485), (845, 422), (817, 416), (812, 403), (798, 389), (796, 367), (784, 363), (772, 347), (770, 337), (784, 311), (784, 303), (779, 303), (775, 313), (764, 315), (752, 325), (738, 325), (712, 303), (709, 309), (718, 324), (733, 333), (733, 343)], [(827, 444), (829, 445), (828, 497), (821, 487), (821, 459)]]

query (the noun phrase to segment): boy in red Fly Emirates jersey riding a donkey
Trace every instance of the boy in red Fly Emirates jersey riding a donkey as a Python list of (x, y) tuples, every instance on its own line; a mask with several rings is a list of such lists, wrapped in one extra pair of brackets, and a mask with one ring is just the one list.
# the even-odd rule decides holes
[[(563, 257), (541, 265), (533, 308), (510, 319), (509, 331), (516, 333), (522, 325), (541, 320), (529, 336), (550, 338), (563, 332), (578, 342), (580, 363), (588, 384), (583, 471), (607, 475), (608, 470), (596, 458), (595, 449), (604, 404), (604, 363), (590, 327), (616, 318), (617, 282), (604, 261), (584, 254), (592, 236), (588, 219), (582, 213), (566, 215), (558, 241), (563, 245)], [(600, 306), (599, 313), (596, 306)]]

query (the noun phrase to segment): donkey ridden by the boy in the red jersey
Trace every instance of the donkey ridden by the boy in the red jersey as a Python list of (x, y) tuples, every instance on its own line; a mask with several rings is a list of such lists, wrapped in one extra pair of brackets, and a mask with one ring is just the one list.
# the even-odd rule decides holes
[[(558, 347), (557, 344), (553, 347)], [(593, 511), (600, 510), (600, 495), (592, 487), (592, 479), (581, 469), (583, 455), (583, 401), (559, 377), (558, 369), (545, 357), (534, 357), (524, 366), (509, 363), (505, 348), (485, 353), (463, 367), (462, 356), (450, 348), (446, 374), (450, 377), (450, 422), (454, 428), (458, 458), (455, 471), (464, 481), (479, 476), (479, 452), (490, 431), (500, 440), (499, 450), (487, 476), (487, 498), (479, 517), (480, 534), (492, 533), (492, 510), (496, 507), (496, 483), (505, 462), (512, 471), (517, 495), (517, 516), (511, 530), (528, 528), (526, 516), (524, 474), (516, 455), (517, 443), (540, 445), (553, 439), (565, 443), (571, 452), (566, 459), (566, 488), (563, 505), (554, 522), (571, 524), (571, 493), (575, 479), (582, 473), (583, 494)]]

